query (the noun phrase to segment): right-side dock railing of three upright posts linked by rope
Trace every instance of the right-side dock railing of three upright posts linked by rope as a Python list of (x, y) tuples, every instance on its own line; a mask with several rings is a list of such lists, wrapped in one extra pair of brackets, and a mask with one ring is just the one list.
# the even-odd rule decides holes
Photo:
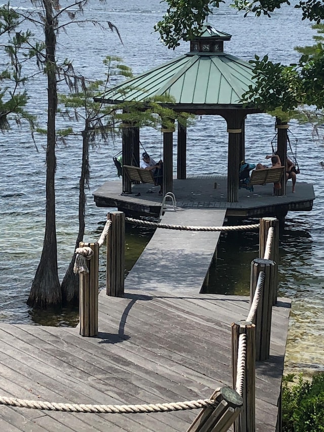
[[(276, 230), (275, 228), (276, 227)], [(246, 321), (232, 324), (233, 387), (244, 404), (234, 430), (255, 430), (255, 361), (270, 352), (272, 304), (276, 302), (278, 224), (260, 219), (259, 257), (251, 263), (250, 308)]]

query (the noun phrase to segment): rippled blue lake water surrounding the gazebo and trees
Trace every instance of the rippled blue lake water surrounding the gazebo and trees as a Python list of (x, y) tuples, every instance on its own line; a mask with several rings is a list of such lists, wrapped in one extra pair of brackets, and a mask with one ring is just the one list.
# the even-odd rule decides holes
[[(68, 2), (61, 2), (64, 7)], [(13, 1), (13, 6), (31, 10), (29, 1)], [(168, 50), (158, 41), (153, 25), (161, 19), (166, 6), (158, 0), (113, 0), (106, 4), (91, 1), (85, 10), (88, 20), (110, 20), (123, 39), (120, 44), (115, 33), (102, 31), (86, 24), (70, 26), (67, 33), (58, 37), (58, 57), (73, 60), (76, 70), (85, 76), (103, 78), (102, 60), (106, 55), (122, 57), (133, 72), (140, 73), (189, 51), (188, 43), (175, 51)], [(36, 11), (37, 12), (37, 11)], [(293, 62), (298, 55), (296, 45), (312, 44), (314, 31), (300, 13), (282, 7), (271, 19), (267, 17), (244, 18), (228, 6), (215, 10), (209, 22), (219, 30), (232, 34), (232, 41), (224, 50), (244, 60), (254, 54), (269, 55), (273, 61)], [(42, 30), (34, 29), (35, 37), (42, 40)], [(0, 54), (5, 61), (3, 53)], [(26, 65), (29, 74), (36, 73), (35, 65)], [(26, 73), (27, 73), (26, 72)], [(63, 88), (62, 88), (63, 91)], [(42, 74), (28, 83), (30, 100), (28, 108), (38, 115), (39, 123), (46, 127), (46, 81)], [(58, 116), (58, 127), (67, 126)], [(82, 130), (82, 125), (75, 125)], [(280, 295), (293, 300), (286, 371), (306, 370), (308, 373), (324, 370), (324, 324), (322, 255), (323, 169), (324, 141), (312, 135), (310, 126), (291, 122), (291, 140), (298, 139), (298, 161), (301, 174), (298, 180), (314, 183), (316, 200), (311, 212), (289, 213), (280, 245)], [(246, 159), (259, 162), (271, 152), (275, 135), (274, 119), (265, 114), (250, 115), (246, 122)], [(175, 137), (176, 138), (176, 137)], [(198, 117), (188, 129), (187, 174), (225, 174), (227, 160), (227, 133), (225, 122), (218, 117)], [(161, 134), (141, 130), (141, 141), (146, 150), (157, 158), (161, 152)], [(26, 305), (32, 279), (42, 251), (45, 227), (45, 146), (44, 136), (36, 137), (36, 151), (26, 127), (2, 135), (0, 142), (2, 182), (0, 184), (0, 320), (7, 323), (47, 323), (72, 325), (75, 312), (64, 311), (60, 316), (35, 313)], [(175, 142), (176, 148), (176, 142)], [(112, 156), (121, 149), (121, 139), (100, 142), (90, 152), (91, 181), (86, 211), (85, 241), (98, 240), (105, 221), (106, 209), (93, 203), (92, 192), (104, 181), (116, 178)], [(59, 277), (62, 280), (77, 233), (78, 177), (82, 139), (71, 138), (67, 145), (57, 146), (56, 210)], [(174, 153), (175, 154), (175, 153)], [(206, 157), (207, 156), (207, 157)], [(213, 164), (213, 167), (212, 167)], [(176, 165), (176, 164), (175, 164)], [(298, 187), (298, 184), (297, 184)], [(135, 262), (152, 231), (128, 227), (127, 268)], [(250, 262), (257, 256), (256, 233), (237, 234), (226, 241), (221, 236), (217, 270), (213, 270), (212, 284), (217, 292), (244, 293), (249, 290)], [(104, 276), (101, 272), (101, 284)]]

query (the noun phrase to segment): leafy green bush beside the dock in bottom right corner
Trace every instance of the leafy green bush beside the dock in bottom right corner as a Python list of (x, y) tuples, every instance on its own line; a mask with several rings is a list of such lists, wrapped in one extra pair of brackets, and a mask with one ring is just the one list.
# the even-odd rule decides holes
[(282, 432), (324, 432), (324, 372), (290, 386), (295, 375), (284, 377), (282, 385)]

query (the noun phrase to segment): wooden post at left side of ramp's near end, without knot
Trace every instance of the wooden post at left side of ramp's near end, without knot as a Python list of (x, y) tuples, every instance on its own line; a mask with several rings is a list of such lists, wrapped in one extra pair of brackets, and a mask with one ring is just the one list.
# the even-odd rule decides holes
[(111, 226), (107, 235), (106, 293), (124, 297), (125, 213), (109, 212)]

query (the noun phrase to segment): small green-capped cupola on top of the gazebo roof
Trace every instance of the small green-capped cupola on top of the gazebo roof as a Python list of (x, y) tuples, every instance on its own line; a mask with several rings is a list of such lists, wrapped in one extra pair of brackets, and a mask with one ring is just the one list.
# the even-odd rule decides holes
[(231, 37), (231, 34), (216, 30), (206, 23), (203, 25), (199, 36), (190, 41), (190, 54), (210, 55), (210, 53), (222, 53), (224, 51), (224, 41), (230, 41)]

